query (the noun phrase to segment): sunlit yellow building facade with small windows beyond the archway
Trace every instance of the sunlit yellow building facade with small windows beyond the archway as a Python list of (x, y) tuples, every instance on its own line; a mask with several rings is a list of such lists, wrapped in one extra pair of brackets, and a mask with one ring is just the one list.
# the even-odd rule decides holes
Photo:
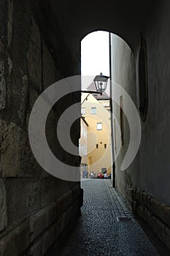
[(110, 112), (92, 94), (82, 94), (82, 116), (88, 123), (88, 173), (111, 173)]

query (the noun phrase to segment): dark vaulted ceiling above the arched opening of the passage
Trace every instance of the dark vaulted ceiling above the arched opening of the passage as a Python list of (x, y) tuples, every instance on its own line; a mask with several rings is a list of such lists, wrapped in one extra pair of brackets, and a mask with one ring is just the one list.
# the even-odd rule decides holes
[(92, 31), (119, 35), (134, 48), (139, 32), (152, 18), (160, 0), (41, 0), (42, 11), (55, 31), (56, 21), (70, 47)]

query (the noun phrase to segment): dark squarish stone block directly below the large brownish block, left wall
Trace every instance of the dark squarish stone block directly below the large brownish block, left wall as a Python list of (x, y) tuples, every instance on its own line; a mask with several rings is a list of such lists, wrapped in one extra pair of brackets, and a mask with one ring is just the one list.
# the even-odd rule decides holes
[(39, 178), (5, 178), (7, 189), (8, 225), (19, 225), (41, 206)]

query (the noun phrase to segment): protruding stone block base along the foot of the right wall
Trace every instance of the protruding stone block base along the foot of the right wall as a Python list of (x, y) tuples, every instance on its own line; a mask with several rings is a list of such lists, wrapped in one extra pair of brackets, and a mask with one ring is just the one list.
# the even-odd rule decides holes
[(126, 182), (126, 198), (132, 211), (144, 219), (156, 236), (170, 249), (170, 206)]

